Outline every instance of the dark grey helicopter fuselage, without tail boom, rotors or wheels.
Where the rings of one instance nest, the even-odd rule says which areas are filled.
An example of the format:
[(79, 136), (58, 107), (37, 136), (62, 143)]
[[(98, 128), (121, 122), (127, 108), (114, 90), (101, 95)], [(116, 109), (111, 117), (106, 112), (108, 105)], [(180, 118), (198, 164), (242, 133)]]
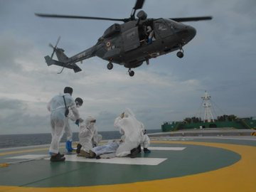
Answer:
[[(153, 41), (147, 43), (146, 26), (154, 30)], [(113, 24), (99, 38), (95, 55), (111, 63), (137, 68), (146, 60), (182, 49), (196, 36), (196, 29), (171, 19), (129, 21)]]

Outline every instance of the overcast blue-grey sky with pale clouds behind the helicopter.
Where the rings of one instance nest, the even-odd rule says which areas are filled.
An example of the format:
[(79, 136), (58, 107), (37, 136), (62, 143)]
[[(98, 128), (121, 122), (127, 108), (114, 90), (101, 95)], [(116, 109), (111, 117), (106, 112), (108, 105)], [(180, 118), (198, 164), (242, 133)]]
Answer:
[[(184, 58), (169, 53), (134, 69), (90, 58), (78, 63), (82, 72), (48, 67), (44, 56), (61, 36), (68, 56), (95, 45), (112, 21), (39, 18), (34, 13), (128, 18), (135, 0), (0, 0), (0, 134), (50, 133), (47, 102), (73, 87), (82, 97), (81, 117), (92, 115), (99, 131), (114, 130), (113, 122), (129, 107), (146, 129), (161, 129), (201, 111), (207, 90), (215, 116), (256, 116), (256, 1), (146, 0), (149, 18), (213, 16), (188, 22), (196, 37), (184, 46)], [(73, 126), (73, 132), (78, 128)]]

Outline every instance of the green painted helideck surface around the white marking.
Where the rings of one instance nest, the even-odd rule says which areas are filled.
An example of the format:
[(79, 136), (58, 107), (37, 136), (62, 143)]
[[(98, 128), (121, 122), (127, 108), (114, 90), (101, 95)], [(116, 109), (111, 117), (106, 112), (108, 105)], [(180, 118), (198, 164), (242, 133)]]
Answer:
[[(0, 167), (0, 189), (1, 186), (34, 188), (102, 186), (190, 176), (225, 168), (241, 160), (240, 154), (235, 151), (221, 147), (204, 146), (204, 142), (256, 146), (255, 141), (238, 139), (200, 138), (178, 142), (181, 142), (181, 144), (163, 144), (154, 141), (151, 146), (186, 147), (186, 149), (182, 151), (154, 150), (151, 151), (151, 154), (144, 154), (142, 151), (142, 154), (137, 156), (137, 158), (166, 158), (166, 161), (156, 166), (73, 161), (53, 163), (48, 159), (10, 164), (7, 167)], [(186, 144), (186, 142), (196, 142), (197, 144)], [(36, 151), (36, 149), (39, 149), (39, 151)], [(23, 154), (47, 155), (48, 153), (46, 146), (36, 147), (36, 149), (24, 149), (23, 152), (22, 149), (0, 151), (0, 164), (23, 160), (8, 159), (10, 156), (21, 156)]]

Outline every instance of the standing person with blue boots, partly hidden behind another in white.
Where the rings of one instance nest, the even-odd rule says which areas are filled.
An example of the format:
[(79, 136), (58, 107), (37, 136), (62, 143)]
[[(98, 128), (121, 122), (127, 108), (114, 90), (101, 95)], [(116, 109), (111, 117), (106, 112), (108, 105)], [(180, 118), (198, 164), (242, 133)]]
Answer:
[[(83, 103), (83, 101), (80, 97), (75, 98), (75, 105), (77, 108), (81, 107), (82, 103)], [(76, 120), (75, 116), (74, 116), (72, 110), (70, 110), (70, 108), (69, 108), (68, 118), (66, 119), (67, 122), (65, 123), (65, 134), (67, 137), (67, 142), (65, 143), (65, 148), (67, 149), (68, 152), (72, 152), (74, 150), (72, 147), (73, 132), (70, 128), (69, 119), (73, 122), (75, 122), (75, 120)]]

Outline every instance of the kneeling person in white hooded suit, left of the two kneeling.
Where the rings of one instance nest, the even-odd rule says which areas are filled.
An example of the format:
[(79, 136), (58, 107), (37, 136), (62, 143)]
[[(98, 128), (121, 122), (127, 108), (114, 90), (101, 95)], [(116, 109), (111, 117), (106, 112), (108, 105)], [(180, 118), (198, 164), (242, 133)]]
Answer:
[(85, 156), (90, 158), (90, 150), (102, 139), (100, 134), (97, 134), (97, 127), (95, 126), (96, 119), (89, 116), (80, 124), (80, 132), (78, 134), (80, 150), (77, 150), (78, 156)]

